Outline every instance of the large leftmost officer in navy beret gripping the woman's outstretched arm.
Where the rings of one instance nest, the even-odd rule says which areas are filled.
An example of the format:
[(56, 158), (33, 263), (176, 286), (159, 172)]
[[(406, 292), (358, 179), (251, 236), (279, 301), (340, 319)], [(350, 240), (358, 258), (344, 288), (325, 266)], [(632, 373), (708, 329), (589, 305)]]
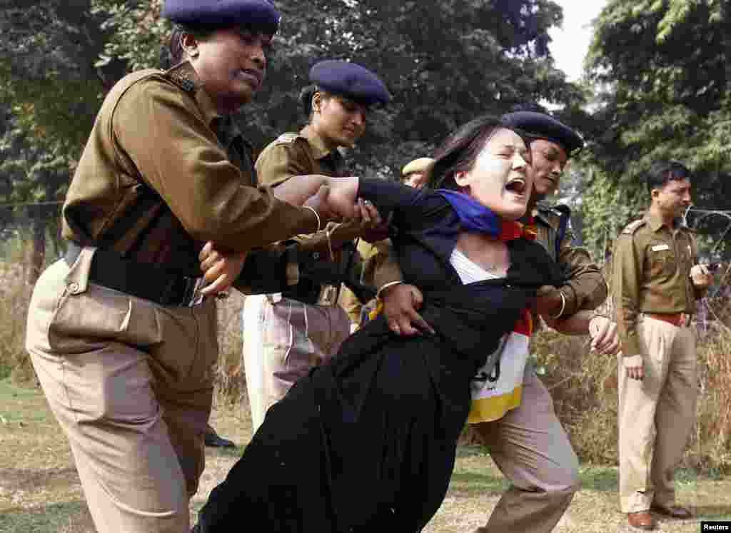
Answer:
[(230, 116), (262, 84), (273, 5), (167, 0), (163, 15), (186, 60), (107, 95), (64, 204), (69, 252), (29, 309), (26, 347), (99, 532), (189, 527), (217, 355), (202, 243), (244, 251), (327, 222), (322, 195), (302, 208), (252, 187)]

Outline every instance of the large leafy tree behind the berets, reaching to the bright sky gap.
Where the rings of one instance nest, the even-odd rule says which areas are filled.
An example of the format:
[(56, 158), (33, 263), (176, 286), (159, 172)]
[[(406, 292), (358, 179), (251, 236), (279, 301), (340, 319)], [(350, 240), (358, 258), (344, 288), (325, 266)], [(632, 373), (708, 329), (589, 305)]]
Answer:
[[(94, 5), (114, 30), (103, 56), (150, 66), (167, 31), (154, 20), (159, 1)], [(526, 100), (583, 102), (548, 54), (548, 29), (562, 20), (550, 0), (282, 0), (277, 7), (282, 23), (265, 88), (240, 116), (258, 147), (298, 129), (298, 93), (309, 67), (323, 58), (366, 65), (394, 96), (369, 118), (352, 153), (362, 172), (393, 175), (480, 113)]]

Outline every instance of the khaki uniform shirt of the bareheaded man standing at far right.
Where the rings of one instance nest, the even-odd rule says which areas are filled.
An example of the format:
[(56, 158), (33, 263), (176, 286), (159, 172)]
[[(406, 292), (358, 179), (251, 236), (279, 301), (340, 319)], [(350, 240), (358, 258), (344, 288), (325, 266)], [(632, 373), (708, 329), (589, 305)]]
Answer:
[(614, 244), (612, 292), (624, 355), (640, 355), (640, 313), (695, 312), (690, 269), (697, 257), (693, 230), (648, 213), (622, 230)]

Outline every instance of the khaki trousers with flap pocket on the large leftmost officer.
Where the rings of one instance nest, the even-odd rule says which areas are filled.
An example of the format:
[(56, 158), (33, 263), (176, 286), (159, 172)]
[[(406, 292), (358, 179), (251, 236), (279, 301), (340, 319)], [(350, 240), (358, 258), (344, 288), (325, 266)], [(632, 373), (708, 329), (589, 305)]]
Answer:
[(34, 288), (26, 347), (99, 533), (187, 533), (204, 468), (216, 307), (167, 308), (88, 282), (94, 249)]

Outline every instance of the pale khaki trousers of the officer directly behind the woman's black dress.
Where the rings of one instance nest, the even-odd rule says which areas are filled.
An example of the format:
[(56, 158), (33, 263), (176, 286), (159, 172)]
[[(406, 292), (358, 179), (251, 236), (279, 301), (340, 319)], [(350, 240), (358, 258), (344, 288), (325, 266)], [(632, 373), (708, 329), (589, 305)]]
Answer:
[(248, 296), (243, 309), (243, 364), (254, 431), (273, 404), (311, 368), (338, 352), (350, 335), (340, 306), (311, 306)]

